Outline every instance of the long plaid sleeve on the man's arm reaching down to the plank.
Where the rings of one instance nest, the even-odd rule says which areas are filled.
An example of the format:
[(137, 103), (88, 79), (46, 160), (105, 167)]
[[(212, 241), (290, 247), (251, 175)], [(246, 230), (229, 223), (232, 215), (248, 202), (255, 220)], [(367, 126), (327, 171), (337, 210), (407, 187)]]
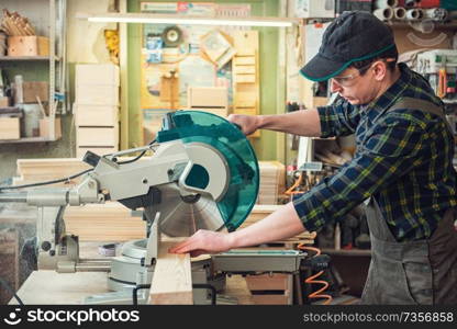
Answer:
[(350, 162), (293, 200), (303, 226), (310, 231), (320, 230), (422, 164), (423, 139), (426, 138), (417, 123), (389, 115), (389, 120), (367, 136)]

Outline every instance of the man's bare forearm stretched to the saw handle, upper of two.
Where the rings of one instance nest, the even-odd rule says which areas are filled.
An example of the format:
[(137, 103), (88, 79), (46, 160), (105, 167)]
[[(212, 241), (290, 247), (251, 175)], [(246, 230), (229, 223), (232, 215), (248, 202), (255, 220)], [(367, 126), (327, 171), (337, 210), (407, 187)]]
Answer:
[(257, 128), (308, 137), (321, 136), (321, 122), (316, 109), (279, 115), (259, 115)]

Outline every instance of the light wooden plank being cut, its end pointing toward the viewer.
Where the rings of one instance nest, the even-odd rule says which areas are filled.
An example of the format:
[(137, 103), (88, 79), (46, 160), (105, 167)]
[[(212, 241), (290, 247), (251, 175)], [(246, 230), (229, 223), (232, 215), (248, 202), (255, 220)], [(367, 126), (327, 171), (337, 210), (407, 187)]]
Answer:
[(168, 253), (176, 242), (161, 242), (154, 269), (148, 304), (192, 305), (192, 271), (189, 253)]

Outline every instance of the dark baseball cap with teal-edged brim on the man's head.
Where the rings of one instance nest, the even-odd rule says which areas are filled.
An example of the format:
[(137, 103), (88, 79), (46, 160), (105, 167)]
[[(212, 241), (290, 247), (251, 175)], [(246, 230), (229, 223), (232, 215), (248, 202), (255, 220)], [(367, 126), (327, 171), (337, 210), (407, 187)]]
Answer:
[(312, 81), (328, 80), (353, 63), (395, 48), (392, 30), (365, 11), (345, 11), (325, 30), (322, 44), (300, 72)]

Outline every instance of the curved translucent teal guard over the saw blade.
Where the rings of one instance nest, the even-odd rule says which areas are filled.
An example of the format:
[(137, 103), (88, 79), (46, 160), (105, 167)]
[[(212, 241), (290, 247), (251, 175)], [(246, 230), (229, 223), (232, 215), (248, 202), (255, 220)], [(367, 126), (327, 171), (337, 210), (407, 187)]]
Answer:
[[(259, 189), (257, 157), (243, 132), (225, 118), (208, 112), (177, 111), (167, 114), (156, 139), (158, 143), (180, 139), (185, 144), (205, 144), (224, 157), (230, 181), (215, 204), (228, 231), (239, 227), (254, 207)], [(222, 170), (226, 169), (221, 168), (221, 174)], [(187, 182), (198, 186), (201, 178), (197, 170)]]

